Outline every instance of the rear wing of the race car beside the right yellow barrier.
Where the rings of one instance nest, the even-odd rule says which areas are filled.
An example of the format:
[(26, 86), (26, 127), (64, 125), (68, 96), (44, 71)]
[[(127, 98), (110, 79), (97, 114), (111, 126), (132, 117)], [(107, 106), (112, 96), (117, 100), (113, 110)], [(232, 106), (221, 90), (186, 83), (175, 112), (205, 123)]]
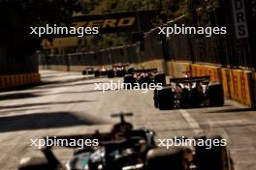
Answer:
[(194, 77), (184, 77), (184, 78), (171, 78), (172, 83), (194, 83), (194, 82), (209, 82), (210, 75), (207, 76), (194, 76)]

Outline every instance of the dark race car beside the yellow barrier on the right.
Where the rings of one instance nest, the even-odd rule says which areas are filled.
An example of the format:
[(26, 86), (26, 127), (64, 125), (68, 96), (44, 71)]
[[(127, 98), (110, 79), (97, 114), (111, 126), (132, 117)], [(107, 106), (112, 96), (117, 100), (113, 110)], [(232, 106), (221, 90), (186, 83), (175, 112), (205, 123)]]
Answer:
[(222, 84), (210, 83), (210, 76), (172, 78), (171, 84), (154, 91), (154, 105), (160, 110), (222, 106), (224, 94)]

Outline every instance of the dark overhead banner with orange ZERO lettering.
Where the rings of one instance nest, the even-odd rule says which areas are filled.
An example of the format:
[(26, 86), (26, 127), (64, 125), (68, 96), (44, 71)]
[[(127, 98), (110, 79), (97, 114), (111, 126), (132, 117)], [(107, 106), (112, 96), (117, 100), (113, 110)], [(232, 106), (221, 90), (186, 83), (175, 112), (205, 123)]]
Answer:
[(152, 28), (157, 11), (74, 16), (75, 27), (99, 27), (99, 34), (117, 32), (145, 32)]

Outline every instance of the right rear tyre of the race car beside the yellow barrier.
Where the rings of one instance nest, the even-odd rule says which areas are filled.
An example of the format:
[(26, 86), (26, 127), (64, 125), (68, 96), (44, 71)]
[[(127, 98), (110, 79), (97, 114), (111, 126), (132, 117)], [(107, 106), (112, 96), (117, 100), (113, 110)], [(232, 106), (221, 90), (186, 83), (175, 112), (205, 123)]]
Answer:
[(224, 93), (222, 84), (209, 84), (208, 86), (208, 104), (210, 106), (224, 105)]

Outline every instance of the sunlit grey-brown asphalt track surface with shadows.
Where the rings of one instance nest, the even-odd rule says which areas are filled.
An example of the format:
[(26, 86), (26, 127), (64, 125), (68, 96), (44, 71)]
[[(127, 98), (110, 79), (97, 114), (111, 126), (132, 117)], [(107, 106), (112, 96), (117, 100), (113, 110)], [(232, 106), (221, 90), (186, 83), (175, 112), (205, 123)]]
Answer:
[[(256, 112), (231, 100), (223, 107), (160, 111), (153, 93), (95, 91), (94, 83), (109, 82), (76, 72), (41, 71), (50, 83), (25, 90), (0, 93), (0, 167), (16, 169), (23, 156), (42, 156), (30, 139), (46, 135), (110, 130), (117, 119), (111, 113), (133, 112), (127, 120), (136, 128), (151, 128), (158, 138), (193, 137), (204, 131), (228, 140), (236, 170), (256, 169)], [(114, 78), (114, 80), (118, 80)], [(56, 149), (63, 161), (72, 152)], [(65, 153), (65, 154), (64, 154)]]

